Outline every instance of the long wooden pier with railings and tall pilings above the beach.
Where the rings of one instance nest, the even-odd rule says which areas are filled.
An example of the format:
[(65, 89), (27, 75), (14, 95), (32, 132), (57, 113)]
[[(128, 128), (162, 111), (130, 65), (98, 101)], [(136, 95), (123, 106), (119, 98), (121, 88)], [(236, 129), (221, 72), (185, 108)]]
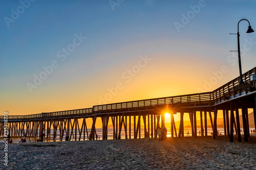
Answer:
[[(207, 136), (207, 117), (210, 118), (212, 139), (218, 135), (217, 115), (221, 110), (223, 113), (224, 135), (233, 141), (233, 135), (238, 136), (242, 141), (239, 111), (242, 113), (243, 140), (248, 141), (250, 137), (248, 123), (248, 109), (253, 109), (254, 125), (256, 125), (256, 88), (255, 81), (250, 80), (251, 75), (256, 75), (256, 67), (243, 74), (245, 85), (238, 85), (239, 77), (224, 84), (211, 92), (196, 94), (168, 96), (165, 98), (147, 99), (131, 102), (121, 102), (105, 105), (97, 105), (92, 108), (66, 110), (31, 115), (0, 116), (0, 136), (4, 136), (6, 126), (11, 137), (23, 136), (39, 138), (38, 134), (47, 134), (50, 138), (53, 131), (53, 139), (60, 133), (60, 140), (65, 134), (69, 140), (95, 140), (97, 118), (102, 121), (102, 139), (108, 139), (108, 125), (113, 125), (112, 139), (121, 139), (121, 132), (124, 131), (125, 139), (141, 137), (157, 137), (156, 130), (165, 126), (164, 113), (170, 113), (170, 129), (172, 137), (184, 136), (184, 114), (188, 114), (191, 123), (192, 136), (197, 136), (197, 114), (200, 114), (202, 136)], [(174, 114), (180, 115), (180, 125), (175, 126)], [(236, 117), (234, 117), (236, 114)], [(212, 119), (212, 116), (214, 117)], [(203, 119), (204, 117), (204, 119)], [(79, 124), (78, 120), (82, 120)], [(92, 127), (87, 126), (88, 119), (91, 119)], [(127, 122), (129, 120), (129, 123)], [(134, 122), (131, 127), (131, 122)], [(81, 121), (80, 121), (81, 122)], [(141, 136), (141, 122), (144, 124), (144, 136)], [(254, 127), (255, 128), (255, 127)], [(88, 129), (91, 129), (88, 131)], [(179, 131), (177, 132), (177, 129)], [(233, 129), (235, 130), (233, 133)], [(78, 132), (78, 135), (77, 135)], [(133, 134), (133, 136), (132, 136)], [(83, 136), (83, 137), (82, 137)]]

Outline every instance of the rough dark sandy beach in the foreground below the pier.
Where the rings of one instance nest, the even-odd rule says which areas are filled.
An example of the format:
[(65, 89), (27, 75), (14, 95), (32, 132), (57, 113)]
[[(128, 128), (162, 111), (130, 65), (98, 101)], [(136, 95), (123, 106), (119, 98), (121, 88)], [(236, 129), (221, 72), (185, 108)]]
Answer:
[(7, 169), (256, 169), (256, 137), (12, 143), (8, 154)]

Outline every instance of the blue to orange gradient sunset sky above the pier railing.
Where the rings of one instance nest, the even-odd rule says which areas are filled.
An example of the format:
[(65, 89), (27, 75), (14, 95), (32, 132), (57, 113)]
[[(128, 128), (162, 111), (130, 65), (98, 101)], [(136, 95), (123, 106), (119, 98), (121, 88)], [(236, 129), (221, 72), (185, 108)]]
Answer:
[[(215, 90), (239, 76), (237, 53), (229, 52), (237, 36), (229, 33), (242, 18), (256, 30), (255, 1), (22, 2), (26, 8), (0, 2), (0, 108), (9, 115)], [(256, 32), (245, 33), (246, 21), (239, 27), (245, 72), (256, 66)], [(87, 38), (73, 49), (80, 35)], [(35, 85), (52, 62), (57, 67)], [(217, 81), (206, 86), (210, 80)]]

